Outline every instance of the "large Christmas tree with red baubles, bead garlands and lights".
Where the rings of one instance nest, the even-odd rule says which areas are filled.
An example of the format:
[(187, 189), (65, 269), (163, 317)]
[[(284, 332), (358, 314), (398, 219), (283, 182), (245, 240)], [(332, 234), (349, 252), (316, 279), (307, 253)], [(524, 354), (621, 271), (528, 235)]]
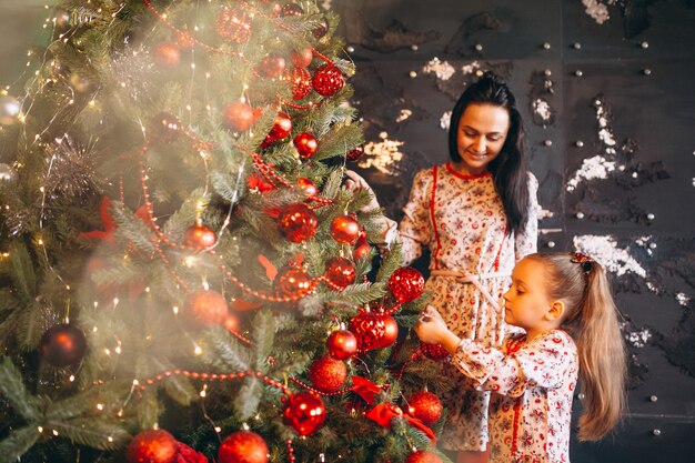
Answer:
[(0, 461), (419, 462), (445, 380), (314, 1), (63, 0), (2, 94)]

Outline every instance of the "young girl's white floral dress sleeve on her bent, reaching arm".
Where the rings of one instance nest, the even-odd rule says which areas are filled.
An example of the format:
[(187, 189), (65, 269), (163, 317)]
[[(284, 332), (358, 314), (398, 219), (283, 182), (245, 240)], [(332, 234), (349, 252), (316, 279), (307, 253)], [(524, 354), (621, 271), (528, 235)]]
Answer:
[[(518, 338), (507, 338), (504, 346)], [(575, 361), (574, 342), (561, 332), (542, 334), (506, 355), (466, 339), (461, 341), (452, 358), (452, 363), (473, 380), (476, 390), (514, 397), (522, 395), (527, 387), (560, 387)]]

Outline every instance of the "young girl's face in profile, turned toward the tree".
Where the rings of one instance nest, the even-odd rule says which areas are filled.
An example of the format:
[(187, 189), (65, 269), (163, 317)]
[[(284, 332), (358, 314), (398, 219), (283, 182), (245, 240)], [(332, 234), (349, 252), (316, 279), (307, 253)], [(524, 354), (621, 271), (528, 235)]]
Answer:
[(512, 286), (504, 293), (504, 321), (533, 333), (547, 322), (553, 301), (546, 293), (543, 263), (522, 259), (512, 272)]

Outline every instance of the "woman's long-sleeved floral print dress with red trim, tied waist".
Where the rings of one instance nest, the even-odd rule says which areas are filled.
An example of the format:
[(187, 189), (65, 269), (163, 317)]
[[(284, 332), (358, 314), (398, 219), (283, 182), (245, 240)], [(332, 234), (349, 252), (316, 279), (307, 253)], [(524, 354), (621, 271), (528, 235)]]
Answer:
[[(504, 311), (491, 300), (502, 300), (514, 264), (536, 251), (537, 181), (532, 174), (528, 184), (528, 222), (524, 232), (515, 235), (507, 233), (504, 207), (491, 173), (463, 175), (446, 163), (415, 175), (399, 225), (404, 261), (412, 262), (423, 246), (430, 248), (432, 276), (425, 289), (449, 329), (462, 339), (496, 348), (506, 334)], [(447, 271), (480, 276), (488, 298), (461, 278), (436, 274)], [(441, 443), (450, 450), (484, 450), (490, 393), (471, 391), (455, 369), (444, 369), (460, 381), (441, 397), (449, 410)]]

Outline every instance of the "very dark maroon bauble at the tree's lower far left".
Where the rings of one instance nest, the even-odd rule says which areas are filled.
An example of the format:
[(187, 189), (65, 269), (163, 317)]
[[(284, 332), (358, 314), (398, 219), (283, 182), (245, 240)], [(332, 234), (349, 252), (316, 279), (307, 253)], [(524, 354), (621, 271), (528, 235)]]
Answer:
[(79, 328), (71, 324), (57, 324), (41, 336), (39, 352), (53, 366), (68, 366), (79, 363), (84, 356), (87, 338)]

